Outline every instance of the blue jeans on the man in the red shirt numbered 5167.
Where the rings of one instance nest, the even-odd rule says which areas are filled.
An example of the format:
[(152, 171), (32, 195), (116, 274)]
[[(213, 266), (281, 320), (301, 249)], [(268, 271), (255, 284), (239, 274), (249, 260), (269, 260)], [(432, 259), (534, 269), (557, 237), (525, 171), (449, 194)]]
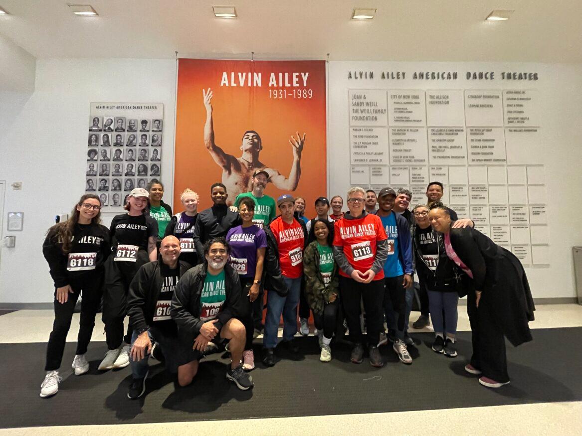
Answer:
[(289, 289), (287, 296), (281, 296), (275, 291), (267, 292), (267, 316), (265, 316), (265, 333), (262, 339), (262, 345), (265, 348), (277, 346), (277, 331), (281, 315), (283, 315), (283, 341), (290, 341), (297, 333), (297, 304), (301, 294), (301, 277), (283, 276), (283, 280)]

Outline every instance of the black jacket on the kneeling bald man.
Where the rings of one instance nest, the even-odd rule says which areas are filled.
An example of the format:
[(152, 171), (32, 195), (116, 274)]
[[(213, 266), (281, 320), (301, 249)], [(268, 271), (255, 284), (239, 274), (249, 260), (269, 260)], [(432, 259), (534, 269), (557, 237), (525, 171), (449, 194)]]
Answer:
[[(186, 262), (179, 262), (180, 276), (190, 268)], [(155, 305), (158, 302), (159, 288), (166, 277), (168, 266), (162, 259), (142, 265), (129, 285), (127, 295), (127, 315), (130, 326), (135, 331), (149, 328), (154, 318)], [(178, 282), (179, 283), (179, 282)]]

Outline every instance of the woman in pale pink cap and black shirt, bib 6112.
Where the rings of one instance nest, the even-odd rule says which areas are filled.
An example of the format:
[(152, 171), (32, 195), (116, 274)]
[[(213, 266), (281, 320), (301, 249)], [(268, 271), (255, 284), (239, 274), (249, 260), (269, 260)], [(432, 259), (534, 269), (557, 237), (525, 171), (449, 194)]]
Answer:
[(132, 326), (128, 326), (127, 334), (123, 336), (129, 284), (144, 263), (158, 258), (155, 249), (158, 223), (144, 213), (149, 196), (146, 190), (135, 188), (124, 206), (127, 213), (113, 217), (109, 228), (113, 255), (105, 264), (103, 296), (103, 322), (108, 352), (99, 365), (100, 370), (129, 365)]

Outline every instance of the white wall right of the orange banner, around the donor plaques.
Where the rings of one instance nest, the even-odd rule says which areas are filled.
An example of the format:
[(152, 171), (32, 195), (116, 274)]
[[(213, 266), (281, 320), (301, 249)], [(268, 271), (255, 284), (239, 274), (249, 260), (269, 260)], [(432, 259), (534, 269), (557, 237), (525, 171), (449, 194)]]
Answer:
[[(329, 89), (329, 191), (342, 195), (350, 187), (349, 89), (537, 89), (541, 94), (543, 156), (531, 163), (544, 163), (548, 194), (549, 267), (531, 267), (526, 272), (535, 298), (573, 297), (575, 294), (572, 246), (582, 244), (582, 66), (510, 63), (437, 62), (330, 62)], [(348, 80), (347, 72), (375, 72), (373, 80)], [(381, 80), (380, 73), (406, 71), (406, 80)], [(414, 71), (457, 71), (456, 81), (412, 80)], [(467, 81), (469, 71), (538, 72), (540, 80)], [(419, 202), (421, 199), (418, 199)], [(413, 199), (413, 203), (415, 203)]]

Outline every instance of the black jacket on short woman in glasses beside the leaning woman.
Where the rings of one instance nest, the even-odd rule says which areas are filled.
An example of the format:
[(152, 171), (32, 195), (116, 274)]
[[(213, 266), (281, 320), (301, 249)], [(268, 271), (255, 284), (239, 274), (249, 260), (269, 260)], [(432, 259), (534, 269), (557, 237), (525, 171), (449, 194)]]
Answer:
[[(462, 291), (460, 283), (461, 271), (455, 262), (449, 259), (445, 251), (445, 240), (442, 233), (437, 234), (438, 244), (438, 265), (435, 271), (431, 270), (423, 260), (423, 252), (420, 249), (417, 241), (418, 226), (414, 224), (412, 230), (412, 244), (414, 247), (414, 258), (416, 259), (416, 273), (420, 279), (420, 283), (425, 285), (429, 291), (440, 292), (459, 292)], [(460, 296), (462, 292), (459, 293)]]

